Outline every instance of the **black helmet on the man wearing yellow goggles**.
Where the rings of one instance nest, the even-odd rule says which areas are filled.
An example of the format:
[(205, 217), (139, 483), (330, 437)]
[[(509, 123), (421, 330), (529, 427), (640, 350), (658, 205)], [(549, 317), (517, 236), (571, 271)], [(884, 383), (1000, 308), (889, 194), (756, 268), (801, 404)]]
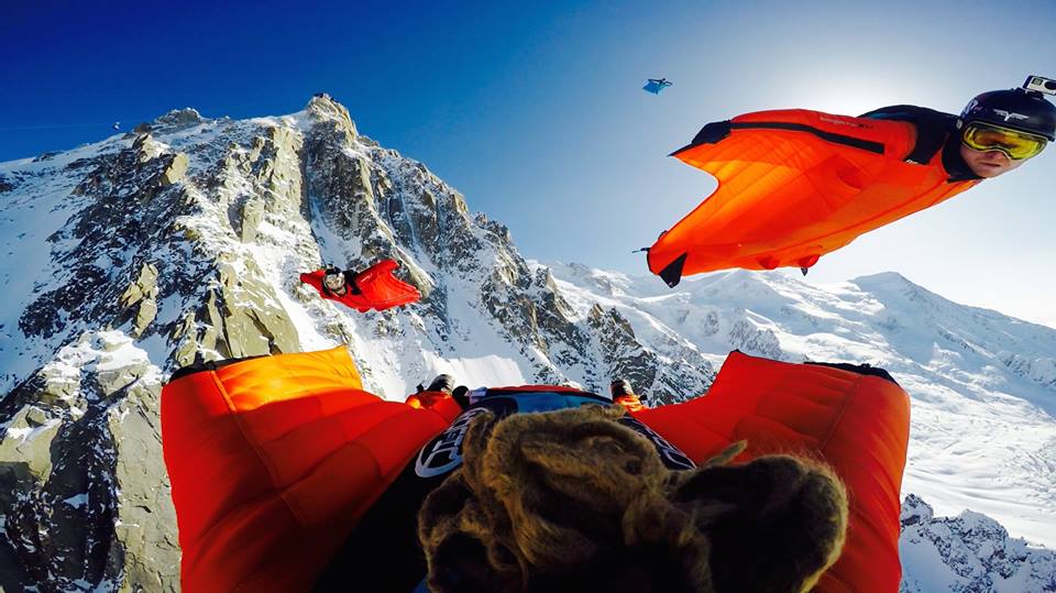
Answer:
[(982, 121), (1056, 141), (1056, 106), (1024, 88), (991, 90), (976, 97), (960, 112), (960, 123)]

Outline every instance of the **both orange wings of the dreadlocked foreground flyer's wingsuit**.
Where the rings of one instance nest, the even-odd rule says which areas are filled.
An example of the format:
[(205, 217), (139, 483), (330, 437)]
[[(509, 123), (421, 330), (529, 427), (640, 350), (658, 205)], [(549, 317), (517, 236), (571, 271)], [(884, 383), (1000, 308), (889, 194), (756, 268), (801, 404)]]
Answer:
[[(451, 397), (417, 403), (362, 391), (343, 347), (174, 376), (162, 437), (183, 590), (309, 590), (400, 469), (460, 413)], [(632, 414), (698, 462), (740, 439), (741, 460), (773, 451), (825, 460), (847, 484), (851, 515), (843, 556), (816, 591), (898, 590), (909, 399), (895, 383), (733, 352), (706, 396)]]

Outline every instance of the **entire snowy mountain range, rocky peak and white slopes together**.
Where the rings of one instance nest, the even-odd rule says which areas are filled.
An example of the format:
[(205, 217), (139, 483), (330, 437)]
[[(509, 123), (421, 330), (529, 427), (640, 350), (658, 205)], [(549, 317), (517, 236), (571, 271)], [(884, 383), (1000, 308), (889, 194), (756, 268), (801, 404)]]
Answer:
[[(2, 163), (0, 250), (0, 587), (178, 590), (162, 382), (194, 361), (338, 343), (367, 387), (394, 399), (449, 372), (470, 386), (594, 391), (623, 376), (659, 404), (703, 393), (733, 349), (869, 362), (914, 399), (905, 493), (1056, 543), (1056, 330), (897, 274), (820, 288), (733, 272), (671, 292), (651, 277), (529, 262), (504, 226), (360, 134), (327, 96), (278, 118), (173, 111)], [(420, 303), (361, 315), (297, 282), (322, 263), (383, 256), (400, 262)], [(943, 552), (950, 539), (920, 535), (938, 520), (926, 515), (904, 549), (933, 546), (938, 563), (906, 561), (906, 591), (945, 591), (926, 589), (939, 582), (935, 567), (963, 567), (964, 554)], [(1050, 552), (986, 548), (976, 535), (1001, 528), (976, 523), (988, 529), (941, 535), (977, 558), (1000, 549), (1010, 574), (1028, 575), (1016, 582), (1052, 583)]]

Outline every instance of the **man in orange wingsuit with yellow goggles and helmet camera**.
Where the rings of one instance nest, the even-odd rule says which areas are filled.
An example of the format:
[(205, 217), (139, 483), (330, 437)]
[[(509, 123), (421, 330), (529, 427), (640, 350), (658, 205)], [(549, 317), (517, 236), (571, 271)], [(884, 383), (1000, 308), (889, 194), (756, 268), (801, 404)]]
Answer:
[(1012, 171), (1056, 140), (1056, 80), (983, 92), (960, 116), (900, 105), (851, 118), (789, 109), (708, 123), (672, 153), (718, 188), (647, 249), (684, 275), (799, 267)]

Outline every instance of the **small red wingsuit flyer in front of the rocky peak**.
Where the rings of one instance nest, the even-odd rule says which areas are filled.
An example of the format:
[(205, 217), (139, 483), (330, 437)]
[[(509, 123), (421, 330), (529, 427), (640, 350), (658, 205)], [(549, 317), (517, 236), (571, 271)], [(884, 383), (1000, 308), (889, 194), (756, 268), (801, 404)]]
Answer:
[(417, 288), (393, 275), (397, 264), (382, 260), (363, 272), (338, 268), (316, 270), (300, 275), (300, 282), (312, 286), (319, 296), (366, 312), (383, 311), (421, 298)]

